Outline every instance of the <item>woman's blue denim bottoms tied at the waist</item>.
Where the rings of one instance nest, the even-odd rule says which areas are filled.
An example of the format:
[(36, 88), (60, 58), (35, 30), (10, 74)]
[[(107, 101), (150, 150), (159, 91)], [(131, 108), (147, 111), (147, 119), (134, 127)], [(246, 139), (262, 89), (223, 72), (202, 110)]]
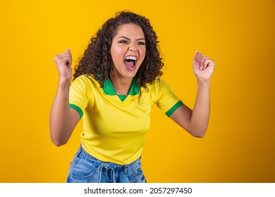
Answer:
[(140, 158), (128, 165), (102, 162), (82, 146), (75, 154), (68, 172), (68, 183), (146, 183)]

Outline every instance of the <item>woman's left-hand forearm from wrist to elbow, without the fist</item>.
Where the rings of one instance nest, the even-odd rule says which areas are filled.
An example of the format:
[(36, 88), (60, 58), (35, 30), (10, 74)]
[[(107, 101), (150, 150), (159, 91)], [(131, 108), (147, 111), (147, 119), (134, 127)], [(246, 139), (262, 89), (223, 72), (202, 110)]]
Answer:
[(51, 141), (56, 146), (66, 144), (72, 132), (70, 128), (69, 87), (70, 81), (59, 82), (51, 107), (49, 127)]

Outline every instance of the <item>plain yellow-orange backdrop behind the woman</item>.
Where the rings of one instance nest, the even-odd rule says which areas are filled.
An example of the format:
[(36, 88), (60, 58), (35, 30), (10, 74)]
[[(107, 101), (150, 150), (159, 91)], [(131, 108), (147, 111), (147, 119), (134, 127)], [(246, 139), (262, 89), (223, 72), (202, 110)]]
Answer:
[(73, 65), (102, 23), (122, 10), (150, 19), (164, 80), (193, 108), (195, 50), (216, 62), (211, 120), (196, 139), (157, 107), (142, 155), (148, 182), (275, 182), (275, 1), (1, 1), (0, 182), (65, 182), (80, 144), (49, 137), (58, 73)]

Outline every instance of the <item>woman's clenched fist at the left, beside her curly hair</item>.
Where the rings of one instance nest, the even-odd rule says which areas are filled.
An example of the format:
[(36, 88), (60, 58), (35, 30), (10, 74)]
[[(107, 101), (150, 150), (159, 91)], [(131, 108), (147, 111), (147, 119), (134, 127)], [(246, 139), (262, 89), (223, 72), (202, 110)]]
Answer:
[(73, 75), (72, 65), (72, 54), (69, 49), (66, 49), (63, 53), (54, 56), (54, 62), (56, 68), (59, 71), (59, 80), (71, 80)]

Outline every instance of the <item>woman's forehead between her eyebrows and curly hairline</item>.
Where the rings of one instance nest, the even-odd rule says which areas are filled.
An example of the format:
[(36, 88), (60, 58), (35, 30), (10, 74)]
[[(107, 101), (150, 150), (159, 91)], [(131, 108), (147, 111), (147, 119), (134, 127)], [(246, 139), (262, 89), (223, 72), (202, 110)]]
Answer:
[(135, 37), (135, 38), (145, 38), (142, 28), (138, 25), (129, 23), (118, 26), (115, 37)]

